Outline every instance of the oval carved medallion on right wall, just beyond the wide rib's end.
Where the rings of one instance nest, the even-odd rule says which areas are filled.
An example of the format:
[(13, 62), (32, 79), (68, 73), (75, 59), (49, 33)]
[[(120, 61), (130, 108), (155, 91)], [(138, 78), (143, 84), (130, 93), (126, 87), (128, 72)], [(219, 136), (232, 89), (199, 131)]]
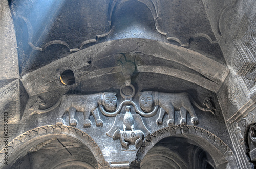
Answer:
[(238, 84), (234, 83), (228, 88), (228, 99), (232, 104), (238, 104), (241, 100), (241, 96), (242, 92)]

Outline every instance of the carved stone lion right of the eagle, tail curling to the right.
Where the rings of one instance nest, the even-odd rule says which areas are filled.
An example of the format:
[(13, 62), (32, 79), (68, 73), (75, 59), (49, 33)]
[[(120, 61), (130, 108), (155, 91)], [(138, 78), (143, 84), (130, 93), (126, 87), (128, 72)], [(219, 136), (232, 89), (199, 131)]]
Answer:
[[(162, 92), (154, 92), (154, 91), (145, 91), (140, 92), (140, 107), (144, 112), (149, 112), (153, 109), (153, 101), (160, 106), (160, 114), (156, 121), (157, 125), (162, 125), (163, 117), (166, 114), (169, 116), (168, 126), (174, 124), (174, 111), (180, 110), (181, 120), (180, 124), (186, 124), (187, 119), (187, 111), (191, 115), (191, 122), (195, 125), (199, 123), (197, 115), (193, 106), (194, 104), (197, 108), (202, 111), (209, 111), (214, 114), (214, 108), (209, 99), (206, 99), (204, 104), (207, 108), (200, 107), (193, 98), (188, 93), (162, 93)], [(153, 97), (155, 96), (155, 97)]]

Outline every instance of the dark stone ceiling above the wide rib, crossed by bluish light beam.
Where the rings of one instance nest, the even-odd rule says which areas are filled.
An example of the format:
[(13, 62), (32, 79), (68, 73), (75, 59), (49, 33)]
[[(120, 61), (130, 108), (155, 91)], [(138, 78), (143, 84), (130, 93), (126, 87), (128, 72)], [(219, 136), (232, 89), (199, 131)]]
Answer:
[(225, 63), (202, 1), (14, 0), (10, 6), (22, 75), (91, 45), (124, 38), (163, 41)]

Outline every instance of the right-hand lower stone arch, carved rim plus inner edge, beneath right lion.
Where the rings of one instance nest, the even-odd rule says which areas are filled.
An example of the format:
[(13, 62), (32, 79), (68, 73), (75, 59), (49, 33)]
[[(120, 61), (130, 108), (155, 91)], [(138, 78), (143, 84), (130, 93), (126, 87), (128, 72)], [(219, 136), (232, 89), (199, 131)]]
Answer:
[[(216, 135), (211, 132), (196, 126), (190, 125), (175, 125), (171, 127), (165, 127), (158, 130), (147, 137), (139, 148), (136, 155), (136, 165), (139, 165), (147, 152), (161, 139), (167, 137), (184, 137), (193, 140), (198, 143), (198, 146), (204, 148), (206, 152), (212, 152), (211, 156), (217, 168), (222, 168), (223, 165), (227, 165), (228, 161), (226, 157), (232, 156), (232, 150)], [(200, 144), (202, 143), (202, 144)]]

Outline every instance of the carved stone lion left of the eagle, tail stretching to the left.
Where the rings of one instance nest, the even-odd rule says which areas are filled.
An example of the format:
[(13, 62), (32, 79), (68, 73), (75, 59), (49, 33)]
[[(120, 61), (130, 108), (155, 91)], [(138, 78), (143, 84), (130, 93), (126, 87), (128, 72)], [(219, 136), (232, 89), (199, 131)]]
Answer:
[(42, 101), (37, 99), (37, 102), (30, 108), (34, 110), (32, 114), (42, 114), (49, 112), (55, 109), (59, 104), (58, 118), (56, 124), (64, 124), (65, 121), (62, 119), (63, 115), (69, 113), (69, 124), (71, 126), (77, 125), (77, 120), (75, 119), (75, 114), (77, 111), (83, 112), (84, 114), (84, 127), (90, 127), (91, 121), (89, 120), (90, 116), (93, 115), (96, 121), (97, 126), (103, 126), (103, 121), (99, 117), (98, 106), (103, 105), (106, 110), (112, 112), (116, 110), (117, 98), (116, 93), (104, 92), (96, 93), (90, 95), (75, 95), (75, 94), (66, 94), (63, 95), (59, 101), (52, 107), (44, 110), (39, 110), (38, 104)]

